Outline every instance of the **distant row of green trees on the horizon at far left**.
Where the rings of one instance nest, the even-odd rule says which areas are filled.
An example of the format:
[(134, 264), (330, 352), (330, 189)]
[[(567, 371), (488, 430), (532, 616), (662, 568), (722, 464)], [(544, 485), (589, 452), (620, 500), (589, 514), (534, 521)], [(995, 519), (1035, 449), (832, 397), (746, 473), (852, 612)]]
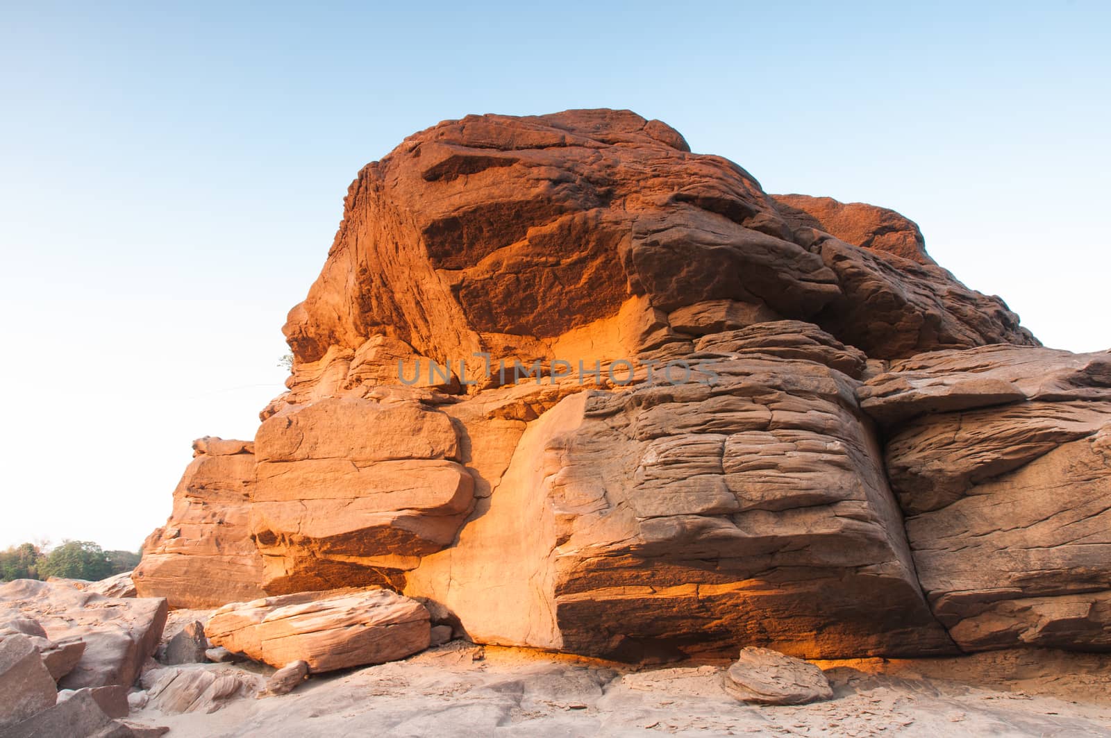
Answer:
[(88, 540), (66, 540), (49, 550), (21, 543), (0, 551), (0, 580), (62, 577), (97, 581), (134, 569), (139, 558), (133, 551), (106, 551)]

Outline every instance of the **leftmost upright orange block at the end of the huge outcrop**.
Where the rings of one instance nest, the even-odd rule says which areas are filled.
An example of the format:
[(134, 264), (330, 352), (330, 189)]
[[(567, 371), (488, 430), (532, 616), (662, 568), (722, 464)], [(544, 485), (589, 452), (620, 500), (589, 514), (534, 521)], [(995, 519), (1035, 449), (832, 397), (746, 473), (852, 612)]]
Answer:
[(170, 607), (220, 607), (262, 596), (262, 557), (248, 528), (253, 443), (206, 437), (173, 491), (173, 512), (143, 545), (133, 572), (142, 597)]

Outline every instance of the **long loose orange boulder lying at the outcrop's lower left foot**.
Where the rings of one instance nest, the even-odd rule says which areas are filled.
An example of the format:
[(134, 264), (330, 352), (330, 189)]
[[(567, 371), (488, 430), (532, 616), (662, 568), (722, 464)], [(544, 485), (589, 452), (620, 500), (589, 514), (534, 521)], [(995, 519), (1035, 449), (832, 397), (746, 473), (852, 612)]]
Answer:
[(382, 664), (428, 648), (428, 610), (386, 589), (343, 589), (268, 597), (220, 608), (204, 627), (218, 646), (312, 672)]

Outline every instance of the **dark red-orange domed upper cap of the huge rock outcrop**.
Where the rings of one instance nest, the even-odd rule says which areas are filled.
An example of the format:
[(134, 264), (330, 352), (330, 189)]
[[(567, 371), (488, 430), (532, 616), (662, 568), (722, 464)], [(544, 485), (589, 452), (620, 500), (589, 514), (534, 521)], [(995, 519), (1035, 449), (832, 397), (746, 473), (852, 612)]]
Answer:
[[(743, 169), (648, 133), (657, 128), (665, 127), (612, 110), (471, 116), (366, 167), (328, 263), (284, 328), (291, 387), (311, 382), (316, 392), (296, 389), (290, 401), (349, 389), (356, 352), (378, 336), (441, 362), (476, 351), (550, 359), (562, 337), (604, 335), (639, 298), (662, 311), (664, 327), (673, 316), (694, 335), (771, 316), (805, 320), (837, 302), (829, 325), (853, 336), (834, 336), (870, 348), (854, 340), (861, 335), (889, 356), (1030, 342), (1001, 301), (929, 263), (905, 219), (839, 206), (868, 211), (868, 223), (844, 229), (810, 217), (800, 228)], [(818, 226), (883, 258), (901, 251), (927, 263), (907, 261), (913, 275), (904, 279), (902, 265), (873, 262), (867, 248), (792, 233)], [(875, 306), (889, 315), (855, 330)], [(610, 359), (629, 350), (602, 343)], [(464, 373), (461, 381), (487, 372), (476, 361)]]

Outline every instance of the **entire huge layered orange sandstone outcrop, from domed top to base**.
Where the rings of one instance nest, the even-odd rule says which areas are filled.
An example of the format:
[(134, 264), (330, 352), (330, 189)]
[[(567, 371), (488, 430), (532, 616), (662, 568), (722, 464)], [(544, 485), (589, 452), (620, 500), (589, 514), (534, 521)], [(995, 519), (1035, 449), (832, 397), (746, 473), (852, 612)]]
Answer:
[(628, 659), (1111, 645), (1111, 357), (1041, 348), (898, 213), (768, 196), (660, 121), (410, 137), (284, 332), (289, 391), (253, 447), (199, 447), (140, 592), (383, 587)]

